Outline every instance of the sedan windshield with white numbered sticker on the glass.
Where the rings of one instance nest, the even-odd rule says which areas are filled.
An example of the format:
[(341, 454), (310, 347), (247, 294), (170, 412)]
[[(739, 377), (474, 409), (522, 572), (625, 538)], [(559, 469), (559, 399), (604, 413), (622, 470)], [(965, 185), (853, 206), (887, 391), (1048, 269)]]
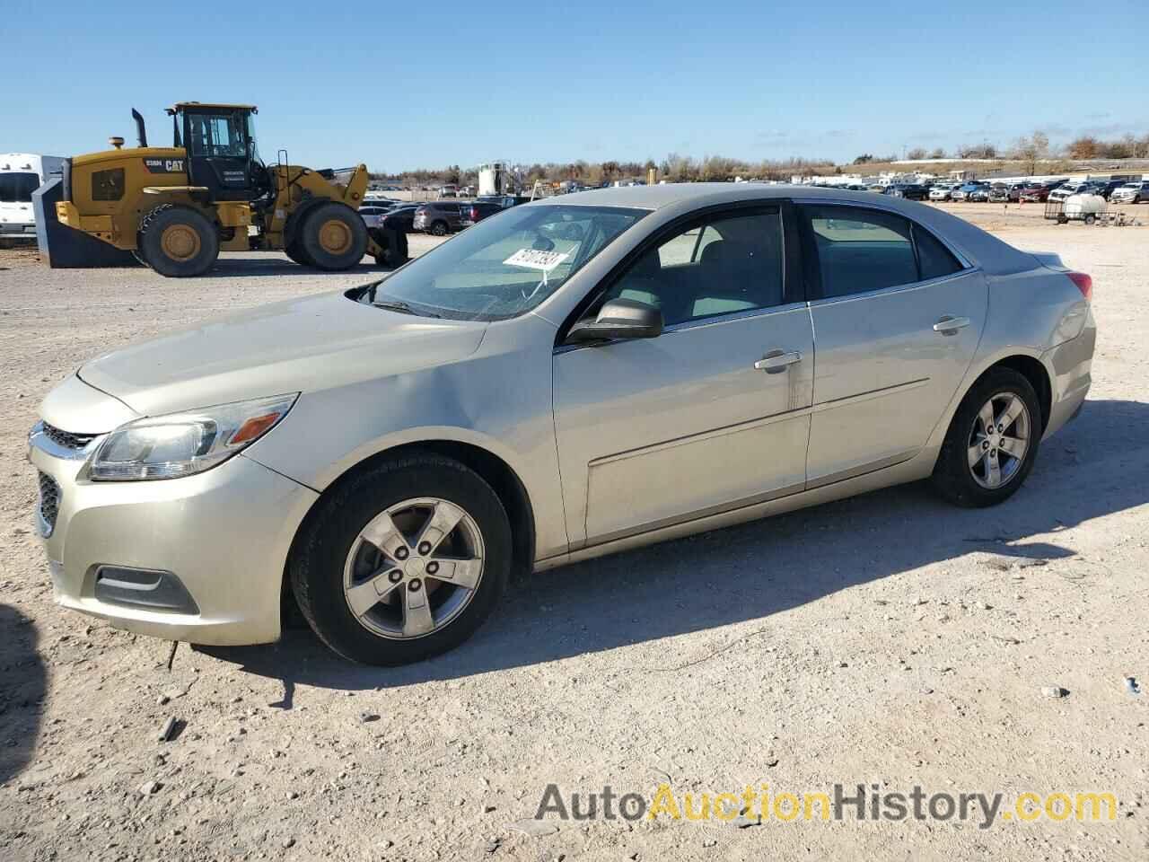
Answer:
[(417, 257), (360, 301), (456, 320), (516, 317), (557, 291), (645, 210), (515, 207)]

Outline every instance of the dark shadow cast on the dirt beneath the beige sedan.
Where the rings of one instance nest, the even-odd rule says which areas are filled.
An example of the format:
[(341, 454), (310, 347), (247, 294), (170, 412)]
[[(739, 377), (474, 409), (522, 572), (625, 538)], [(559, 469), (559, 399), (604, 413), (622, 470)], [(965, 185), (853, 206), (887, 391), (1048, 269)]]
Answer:
[(203, 649), (284, 680), (290, 708), (296, 685), (392, 687), (556, 661), (764, 619), (977, 552), (1067, 560), (1077, 555), (1070, 542), (1026, 537), (1149, 501), (1147, 423), (1149, 405), (1088, 402), (1044, 441), (1025, 486), (990, 509), (949, 506), (918, 483), (540, 574), (512, 583), (466, 644), (404, 668), (352, 664), (307, 629), (276, 645)]

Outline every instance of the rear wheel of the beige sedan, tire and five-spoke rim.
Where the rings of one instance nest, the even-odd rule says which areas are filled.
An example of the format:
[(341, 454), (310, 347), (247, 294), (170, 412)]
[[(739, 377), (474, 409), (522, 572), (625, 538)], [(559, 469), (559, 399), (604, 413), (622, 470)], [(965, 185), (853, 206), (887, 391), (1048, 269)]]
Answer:
[[(1017, 410), (1015, 399), (1024, 411)], [(1001, 417), (1007, 407), (1012, 416), (1004, 423), (1004, 430), (993, 437), (984, 431), (982, 410), (989, 403), (995, 416)], [(954, 414), (934, 465), (934, 488), (950, 502), (971, 508), (1008, 500), (1033, 469), (1043, 428), (1038, 394), (1025, 376), (1010, 368), (990, 369), (965, 394)], [(1012, 442), (998, 448), (996, 444), (1001, 440)], [(1017, 451), (1018, 440), (1024, 441), (1020, 457), (1001, 454)], [(978, 451), (981, 456), (971, 463)], [(996, 477), (992, 474), (994, 464)]]

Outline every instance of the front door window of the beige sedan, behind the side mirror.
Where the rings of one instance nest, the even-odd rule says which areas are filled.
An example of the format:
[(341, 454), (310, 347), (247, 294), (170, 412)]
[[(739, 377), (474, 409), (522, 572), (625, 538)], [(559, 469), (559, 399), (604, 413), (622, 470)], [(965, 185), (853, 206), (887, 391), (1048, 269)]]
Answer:
[(694, 222), (646, 251), (604, 299), (662, 311), (668, 326), (782, 303), (782, 223), (778, 209)]

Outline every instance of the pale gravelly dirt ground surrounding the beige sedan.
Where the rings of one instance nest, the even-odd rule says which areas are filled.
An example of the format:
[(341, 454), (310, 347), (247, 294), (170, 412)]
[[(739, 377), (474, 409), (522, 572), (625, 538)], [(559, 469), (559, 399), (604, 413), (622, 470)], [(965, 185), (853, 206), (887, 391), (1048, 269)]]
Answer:
[[(1149, 857), (1149, 229), (954, 209), (1094, 277), (1089, 401), (1011, 501), (959, 510), (907, 486), (555, 570), (462, 648), (398, 670), (304, 629), (180, 646), (169, 671), (168, 644), (64, 613), (25, 461), (40, 399), (85, 359), (375, 270), (225, 255), (177, 282), (0, 254), (0, 859)], [(552, 783), (568, 801), (863, 784), (1007, 806), (1110, 792), (1118, 809), (516, 828)]]

